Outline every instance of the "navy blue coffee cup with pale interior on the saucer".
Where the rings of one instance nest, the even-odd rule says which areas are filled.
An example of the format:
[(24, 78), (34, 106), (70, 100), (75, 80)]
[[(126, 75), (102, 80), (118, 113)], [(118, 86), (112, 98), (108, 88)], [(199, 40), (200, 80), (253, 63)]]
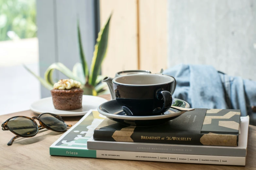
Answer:
[(172, 105), (175, 80), (157, 74), (125, 75), (112, 80), (116, 101), (127, 115), (153, 116)]

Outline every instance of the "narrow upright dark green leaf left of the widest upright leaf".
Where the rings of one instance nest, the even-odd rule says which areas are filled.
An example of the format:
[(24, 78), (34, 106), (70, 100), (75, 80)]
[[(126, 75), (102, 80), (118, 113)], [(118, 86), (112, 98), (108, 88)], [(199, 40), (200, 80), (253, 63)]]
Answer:
[(78, 33), (78, 44), (79, 44), (79, 56), (81, 60), (81, 64), (83, 66), (83, 74), (85, 78), (88, 78), (89, 76), (89, 69), (86, 63), (84, 51), (83, 51), (83, 44), (82, 44), (82, 39), (81, 39), (81, 33), (80, 33), (80, 26), (79, 26), (79, 21), (77, 20), (77, 33)]

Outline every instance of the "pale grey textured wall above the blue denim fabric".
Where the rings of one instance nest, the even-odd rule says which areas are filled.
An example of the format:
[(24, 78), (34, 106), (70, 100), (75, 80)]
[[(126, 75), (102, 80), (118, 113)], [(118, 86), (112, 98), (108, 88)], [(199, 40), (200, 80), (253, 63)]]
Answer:
[(169, 0), (168, 67), (179, 63), (256, 80), (256, 1)]

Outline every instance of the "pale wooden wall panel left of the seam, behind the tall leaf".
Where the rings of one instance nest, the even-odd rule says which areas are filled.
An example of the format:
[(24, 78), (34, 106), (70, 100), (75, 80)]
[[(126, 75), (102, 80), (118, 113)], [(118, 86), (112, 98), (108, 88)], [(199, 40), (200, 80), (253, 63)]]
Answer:
[(112, 12), (109, 44), (102, 64), (102, 75), (114, 77), (122, 70), (138, 69), (137, 1), (101, 0), (100, 24)]

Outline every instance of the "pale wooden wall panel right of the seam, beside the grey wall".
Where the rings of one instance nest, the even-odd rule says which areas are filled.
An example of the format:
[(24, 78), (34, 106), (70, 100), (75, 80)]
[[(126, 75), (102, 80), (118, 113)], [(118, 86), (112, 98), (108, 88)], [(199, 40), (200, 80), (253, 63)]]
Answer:
[(167, 67), (167, 0), (139, 0), (140, 69)]

